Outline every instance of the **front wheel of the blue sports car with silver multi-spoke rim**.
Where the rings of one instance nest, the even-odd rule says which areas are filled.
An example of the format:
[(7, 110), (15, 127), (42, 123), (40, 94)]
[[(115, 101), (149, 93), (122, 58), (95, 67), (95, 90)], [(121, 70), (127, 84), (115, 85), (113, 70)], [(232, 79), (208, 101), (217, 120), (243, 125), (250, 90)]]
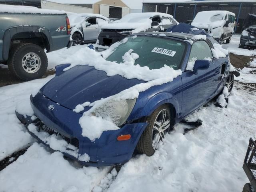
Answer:
[(160, 106), (148, 116), (147, 122), (148, 126), (140, 136), (136, 149), (141, 154), (152, 156), (158, 148), (158, 143), (170, 129), (170, 107), (166, 104)]

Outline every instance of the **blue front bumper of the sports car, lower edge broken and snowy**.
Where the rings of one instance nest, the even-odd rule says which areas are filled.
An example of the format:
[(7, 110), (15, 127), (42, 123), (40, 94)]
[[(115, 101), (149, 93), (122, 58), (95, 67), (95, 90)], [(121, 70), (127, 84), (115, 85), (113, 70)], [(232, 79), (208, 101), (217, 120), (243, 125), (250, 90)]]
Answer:
[[(34, 128), (33, 125), (26, 125), (28, 132), (53, 151), (61, 151), (65, 156), (88, 166), (108, 166), (127, 162), (132, 157), (140, 135), (147, 126), (147, 123), (125, 124), (118, 130), (104, 131), (99, 139), (92, 142), (82, 136), (82, 128), (78, 123), (82, 114), (64, 108), (40, 93), (36, 94), (34, 98), (30, 96), (30, 101), (39, 122), (43, 122), (47, 128), (62, 136), (66, 142), (70, 140), (70, 143), (67, 142), (68, 144), (64, 145), (66, 149), (58, 150), (48, 142), (50, 138), (47, 137), (52, 137), (52, 135), (44, 134), (44, 137), (42, 137), (42, 131), (44, 130), (38, 131), (38, 128)], [(49, 105), (54, 105), (54, 110), (48, 110)], [(17, 117), (25, 124), (28, 123), (19, 114), (17, 114)], [(35, 121), (32, 123), (35, 123)], [(117, 140), (118, 136), (125, 134), (130, 134), (131, 138), (125, 141)], [(79, 156), (83, 154), (88, 154), (89, 162), (79, 160)]]

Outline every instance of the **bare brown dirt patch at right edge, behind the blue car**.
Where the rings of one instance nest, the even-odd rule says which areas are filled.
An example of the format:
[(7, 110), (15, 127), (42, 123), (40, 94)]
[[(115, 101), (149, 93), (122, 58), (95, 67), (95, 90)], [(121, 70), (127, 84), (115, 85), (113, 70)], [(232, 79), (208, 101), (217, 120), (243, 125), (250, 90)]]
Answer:
[(236, 68), (244, 68), (249, 66), (249, 62), (251, 62), (253, 59), (256, 59), (255, 56), (244, 56), (244, 55), (234, 55), (230, 53), (230, 62), (232, 65)]

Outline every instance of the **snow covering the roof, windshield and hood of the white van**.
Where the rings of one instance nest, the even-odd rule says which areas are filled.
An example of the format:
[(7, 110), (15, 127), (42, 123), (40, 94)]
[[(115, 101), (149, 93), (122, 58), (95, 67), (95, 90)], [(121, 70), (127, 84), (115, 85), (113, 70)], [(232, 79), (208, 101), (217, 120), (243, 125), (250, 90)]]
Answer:
[(224, 23), (224, 17), (226, 14), (234, 15), (234, 13), (229, 11), (201, 11), (196, 14), (192, 26), (196, 26), (198, 28), (211, 28), (222, 26)]

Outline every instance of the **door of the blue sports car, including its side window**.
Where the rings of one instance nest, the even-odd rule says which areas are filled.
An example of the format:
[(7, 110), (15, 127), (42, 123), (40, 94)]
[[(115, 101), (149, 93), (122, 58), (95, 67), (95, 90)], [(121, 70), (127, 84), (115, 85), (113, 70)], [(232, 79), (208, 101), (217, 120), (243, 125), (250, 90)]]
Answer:
[[(212, 51), (206, 41), (194, 42), (188, 62), (212, 59)], [(182, 73), (182, 116), (190, 114), (214, 97), (218, 86), (219, 65), (210, 61), (204, 70), (186, 70)]]

